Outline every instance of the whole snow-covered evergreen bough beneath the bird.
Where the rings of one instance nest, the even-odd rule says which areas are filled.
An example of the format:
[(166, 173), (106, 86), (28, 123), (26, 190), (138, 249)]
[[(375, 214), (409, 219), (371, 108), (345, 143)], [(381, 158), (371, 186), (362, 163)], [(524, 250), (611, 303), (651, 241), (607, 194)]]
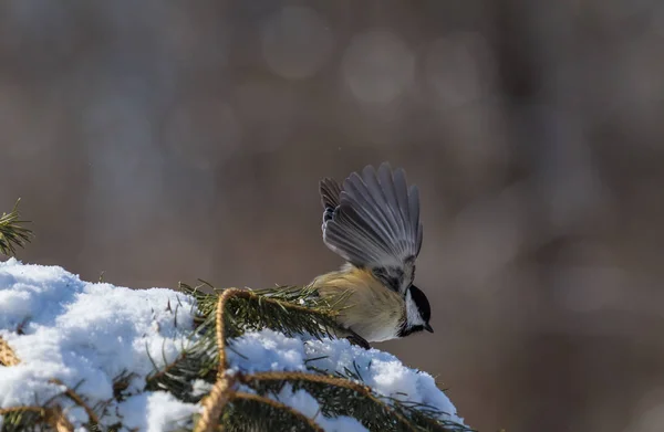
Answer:
[(129, 289), (0, 263), (0, 430), (468, 431), (307, 288)]

